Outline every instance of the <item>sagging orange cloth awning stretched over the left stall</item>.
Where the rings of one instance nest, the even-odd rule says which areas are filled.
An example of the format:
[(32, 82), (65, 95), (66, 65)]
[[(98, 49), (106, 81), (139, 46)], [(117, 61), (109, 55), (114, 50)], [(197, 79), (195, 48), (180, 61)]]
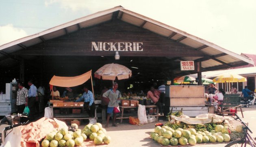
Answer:
[(50, 85), (60, 86), (60, 87), (74, 87), (85, 83), (91, 78), (91, 70), (80, 76), (75, 77), (59, 77), (53, 76), (50, 80)]

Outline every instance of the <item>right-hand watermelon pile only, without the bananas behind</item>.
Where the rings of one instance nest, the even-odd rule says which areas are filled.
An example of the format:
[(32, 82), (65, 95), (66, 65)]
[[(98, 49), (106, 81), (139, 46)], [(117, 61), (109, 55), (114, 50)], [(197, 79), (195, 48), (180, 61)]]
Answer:
[[(241, 132), (241, 127), (231, 132)], [(230, 141), (228, 125), (217, 125), (214, 130), (196, 131), (195, 128), (178, 128), (174, 130), (168, 125), (156, 126), (150, 137), (163, 146), (195, 145), (198, 143), (222, 143)]]

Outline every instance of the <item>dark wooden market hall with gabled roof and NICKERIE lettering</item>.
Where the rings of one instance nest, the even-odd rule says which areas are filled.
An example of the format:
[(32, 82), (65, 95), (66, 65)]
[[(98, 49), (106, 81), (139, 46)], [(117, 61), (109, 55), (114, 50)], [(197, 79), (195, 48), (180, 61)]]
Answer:
[[(180, 61), (194, 61), (194, 70), (181, 70)], [(13, 78), (33, 79), (37, 86), (48, 87), (54, 75), (77, 76), (108, 63), (132, 70), (132, 77), (119, 88), (128, 84), (148, 88), (152, 82), (191, 73), (200, 77), (202, 71), (253, 61), (117, 6), (0, 46), (0, 89)], [(95, 82), (99, 91), (102, 82)]]

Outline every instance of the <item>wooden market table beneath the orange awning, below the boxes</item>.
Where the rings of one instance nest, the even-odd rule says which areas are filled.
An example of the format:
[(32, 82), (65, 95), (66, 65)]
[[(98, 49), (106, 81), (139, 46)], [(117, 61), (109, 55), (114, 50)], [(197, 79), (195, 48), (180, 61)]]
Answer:
[[(97, 119), (96, 111), (97, 111), (98, 107), (99, 107), (98, 105), (95, 105), (94, 119)], [(91, 118), (89, 118), (89, 115), (87, 113), (82, 113), (82, 111), (84, 109), (83, 106), (75, 106), (75, 107), (52, 107), (51, 106), (50, 108), (52, 108), (53, 118), (65, 119), (65, 120), (78, 120), (78, 119), (85, 120), (85, 119), (91, 119)], [(73, 114), (73, 113), (71, 113), (71, 114), (55, 114), (54, 113), (54, 109), (55, 108), (74, 108), (74, 109), (81, 108), (82, 110), (81, 110), (81, 113), (79, 113), (79, 114)]]

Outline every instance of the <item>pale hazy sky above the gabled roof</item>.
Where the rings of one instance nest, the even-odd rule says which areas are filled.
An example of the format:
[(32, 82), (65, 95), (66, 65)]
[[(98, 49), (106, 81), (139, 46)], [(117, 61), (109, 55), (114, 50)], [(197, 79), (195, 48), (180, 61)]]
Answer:
[(0, 0), (0, 45), (114, 6), (256, 54), (255, 0)]

